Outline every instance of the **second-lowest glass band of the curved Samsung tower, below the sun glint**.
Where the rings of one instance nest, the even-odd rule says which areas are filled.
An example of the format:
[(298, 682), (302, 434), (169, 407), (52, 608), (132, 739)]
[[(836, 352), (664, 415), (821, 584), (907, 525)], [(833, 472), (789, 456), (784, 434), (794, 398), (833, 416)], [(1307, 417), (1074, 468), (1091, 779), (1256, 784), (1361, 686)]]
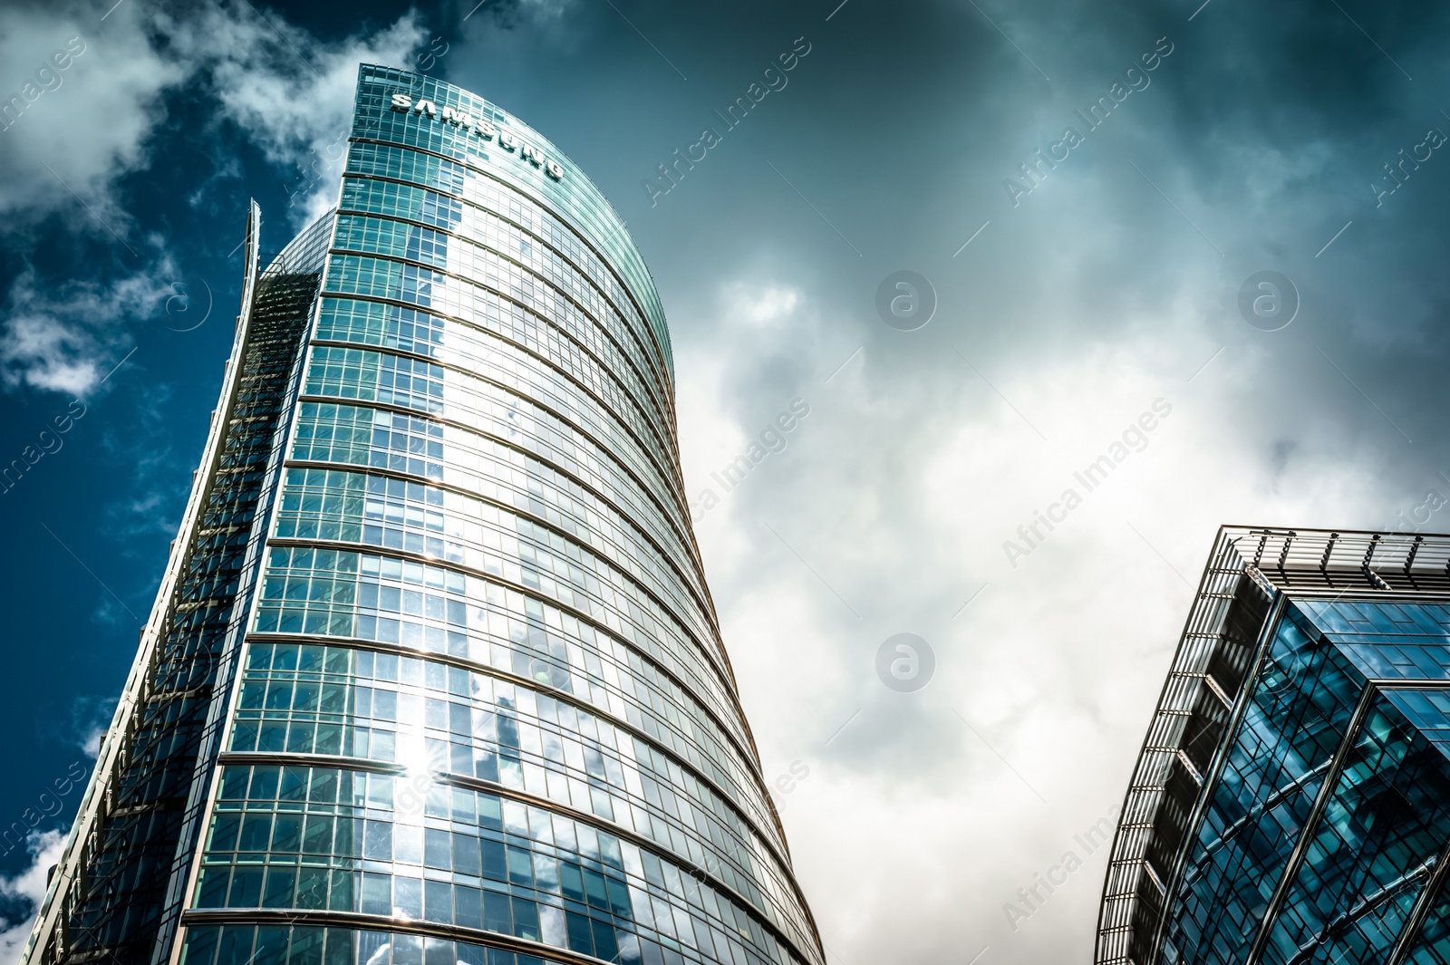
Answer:
[(628, 839), (497, 794), (334, 768), (226, 768), (196, 907), (393, 916), (606, 961), (676, 943), (689, 961), (732, 945), (784, 961), (738, 898)]

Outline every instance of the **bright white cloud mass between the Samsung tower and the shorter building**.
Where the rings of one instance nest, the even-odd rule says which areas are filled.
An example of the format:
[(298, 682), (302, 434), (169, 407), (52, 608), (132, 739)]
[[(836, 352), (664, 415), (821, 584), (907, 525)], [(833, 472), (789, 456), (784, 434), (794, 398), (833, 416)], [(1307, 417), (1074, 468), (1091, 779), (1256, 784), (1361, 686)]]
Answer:
[[(811, 401), (790, 448), (697, 533), (766, 777), (811, 768), (783, 822), (832, 961), (967, 961), (987, 945), (992, 961), (1089, 961), (1106, 851), (1073, 835), (1121, 800), (1192, 596), (1174, 569), (1195, 582), (1224, 522), (1375, 522), (1385, 472), (1344, 452), (1333, 414), (1235, 417), (1277, 365), (1254, 343), (1188, 384), (1217, 348), (1193, 298), (1111, 339), (983, 351), (989, 385), (941, 326), (829, 332), (829, 296), (755, 296), (777, 285), (741, 274), (702, 317), (680, 313), (682, 448), (693, 494), (751, 435), (750, 413)], [(738, 325), (786, 301), (763, 329)], [(1012, 568), (1002, 542), (1080, 490), (1073, 471), (1157, 398), (1173, 410), (1147, 446)], [(1282, 439), (1293, 456), (1276, 464)], [(916, 694), (876, 678), (898, 632), (937, 656)], [(1014, 932), (1002, 906), (1067, 851), (1083, 866)]]

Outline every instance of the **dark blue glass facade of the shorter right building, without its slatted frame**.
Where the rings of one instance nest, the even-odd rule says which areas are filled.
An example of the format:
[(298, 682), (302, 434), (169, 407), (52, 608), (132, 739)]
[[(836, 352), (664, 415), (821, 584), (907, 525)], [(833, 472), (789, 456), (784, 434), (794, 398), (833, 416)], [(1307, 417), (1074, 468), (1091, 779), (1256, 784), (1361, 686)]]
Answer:
[(1446, 606), (1286, 603), (1209, 775), (1160, 962), (1450, 961), (1447, 668)]

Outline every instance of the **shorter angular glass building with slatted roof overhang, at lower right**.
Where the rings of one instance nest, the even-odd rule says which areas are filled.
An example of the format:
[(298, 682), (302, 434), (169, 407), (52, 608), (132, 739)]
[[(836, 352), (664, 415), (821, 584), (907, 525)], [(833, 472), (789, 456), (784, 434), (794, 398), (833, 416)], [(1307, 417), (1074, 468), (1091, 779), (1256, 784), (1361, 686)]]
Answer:
[(1225, 527), (1095, 961), (1450, 962), (1450, 536)]

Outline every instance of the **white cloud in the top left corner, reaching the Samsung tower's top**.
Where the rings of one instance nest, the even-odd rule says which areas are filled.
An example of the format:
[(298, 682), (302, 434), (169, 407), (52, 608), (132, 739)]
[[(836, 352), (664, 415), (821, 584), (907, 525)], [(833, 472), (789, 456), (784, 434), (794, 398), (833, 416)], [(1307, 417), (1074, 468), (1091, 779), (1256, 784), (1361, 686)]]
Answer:
[(39, 96), (0, 133), (0, 213), (25, 223), (71, 210), (80, 196), (96, 212), (91, 230), (104, 220), (125, 235), (110, 187), (149, 164), (146, 139), (165, 120), (167, 94), (197, 88), (215, 99), (213, 117), (241, 126), (270, 161), (310, 170), (313, 156), (336, 159), (357, 65), (409, 62), (423, 32), (415, 12), (373, 35), (323, 42), (251, 4), (170, 14), (132, 3), (104, 22), (88, 6), (10, 4), (0, 10), (0, 93), (25, 101), (25, 84), (70, 38), (83, 52), (54, 72), (54, 90), (32, 87)]

